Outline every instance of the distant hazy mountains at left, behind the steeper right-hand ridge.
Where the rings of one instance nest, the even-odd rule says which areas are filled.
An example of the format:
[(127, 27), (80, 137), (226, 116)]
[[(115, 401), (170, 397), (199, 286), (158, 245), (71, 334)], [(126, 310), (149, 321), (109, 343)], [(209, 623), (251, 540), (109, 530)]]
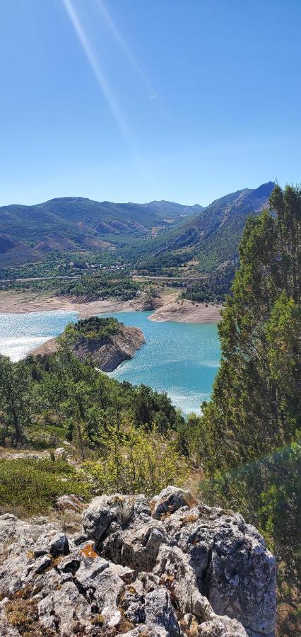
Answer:
[(0, 233), (38, 251), (97, 250), (122, 237), (146, 237), (153, 229), (182, 222), (200, 206), (98, 202), (61, 197), (35, 206), (0, 207)]

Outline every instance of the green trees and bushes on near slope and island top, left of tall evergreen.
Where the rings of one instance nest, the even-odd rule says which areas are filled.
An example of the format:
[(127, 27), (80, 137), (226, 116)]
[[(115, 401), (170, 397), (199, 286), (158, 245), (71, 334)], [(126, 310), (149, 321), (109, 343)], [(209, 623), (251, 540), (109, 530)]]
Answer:
[[(100, 331), (117, 328), (114, 319), (100, 321)], [(78, 332), (87, 335), (92, 327), (95, 319), (80, 321)], [(177, 443), (184, 419), (170, 398), (144, 385), (110, 379), (66, 346), (16, 363), (0, 356), (0, 401), (0, 444), (43, 452), (66, 441), (66, 452), (81, 462), (78, 472), (64, 459), (4, 456), (4, 511), (45, 513), (64, 493), (84, 498), (116, 490), (153, 495), (187, 474)]]

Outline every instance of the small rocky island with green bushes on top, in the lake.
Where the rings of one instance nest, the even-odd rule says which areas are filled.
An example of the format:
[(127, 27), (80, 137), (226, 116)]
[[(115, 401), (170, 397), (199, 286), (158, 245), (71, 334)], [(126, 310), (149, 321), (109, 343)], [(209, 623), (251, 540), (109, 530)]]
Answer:
[(66, 344), (79, 360), (90, 358), (102, 372), (113, 372), (124, 360), (133, 358), (143, 343), (146, 340), (141, 329), (125, 326), (112, 317), (91, 316), (69, 323), (61, 336), (47, 340), (31, 353), (50, 354)]

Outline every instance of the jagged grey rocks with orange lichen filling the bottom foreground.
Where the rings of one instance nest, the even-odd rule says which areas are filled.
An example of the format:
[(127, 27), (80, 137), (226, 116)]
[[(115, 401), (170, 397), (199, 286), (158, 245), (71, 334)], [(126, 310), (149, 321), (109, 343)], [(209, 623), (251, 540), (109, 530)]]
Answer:
[(188, 491), (94, 498), (82, 532), (68, 536), (47, 518), (5, 514), (0, 542), (1, 636), (274, 634), (276, 568), (264, 539)]

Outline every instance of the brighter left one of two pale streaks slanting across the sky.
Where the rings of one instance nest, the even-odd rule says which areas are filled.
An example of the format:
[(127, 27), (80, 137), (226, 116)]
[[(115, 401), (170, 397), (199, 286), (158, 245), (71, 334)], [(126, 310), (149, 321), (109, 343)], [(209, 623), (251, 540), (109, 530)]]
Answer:
[[(92, 47), (90, 46), (90, 42), (88, 41), (88, 37), (85, 33), (85, 31), (83, 30), (83, 27), (81, 25), (81, 22), (78, 18), (78, 14), (76, 13), (76, 10), (72, 4), (72, 0), (62, 0), (66, 11), (69, 15), (69, 18), (71, 20), (71, 23), (73, 25), (74, 30), (76, 31), (76, 35), (78, 37), (79, 42), (81, 42), (81, 46), (83, 47), (83, 51), (85, 53), (85, 56), (88, 59), (88, 62), (90, 63), (90, 67), (93, 70), (93, 73), (96, 77), (96, 79), (98, 80), (98, 84), (100, 85), (100, 88), (102, 90), (102, 93), (104, 94), (107, 103), (110, 105), (110, 109), (112, 111), (112, 114), (114, 115), (115, 120), (117, 121), (117, 124), (119, 126), (120, 131), (122, 132), (122, 136), (124, 137), (124, 139), (126, 140), (126, 143), (129, 145), (129, 148), (131, 149), (131, 151), (133, 152), (133, 154), (137, 155), (136, 149), (134, 148), (134, 144), (133, 144), (133, 139), (132, 139), (132, 135), (131, 132), (129, 131), (129, 128), (126, 125), (126, 122), (124, 120), (124, 117), (119, 109), (119, 105), (117, 104), (116, 99), (114, 98), (114, 95), (112, 93), (112, 90), (107, 82), (107, 79), (105, 78), (105, 75), (100, 67), (100, 64), (98, 62), (97, 57), (95, 57), (95, 54), (93, 52)], [(140, 158), (139, 158), (140, 159)]]

